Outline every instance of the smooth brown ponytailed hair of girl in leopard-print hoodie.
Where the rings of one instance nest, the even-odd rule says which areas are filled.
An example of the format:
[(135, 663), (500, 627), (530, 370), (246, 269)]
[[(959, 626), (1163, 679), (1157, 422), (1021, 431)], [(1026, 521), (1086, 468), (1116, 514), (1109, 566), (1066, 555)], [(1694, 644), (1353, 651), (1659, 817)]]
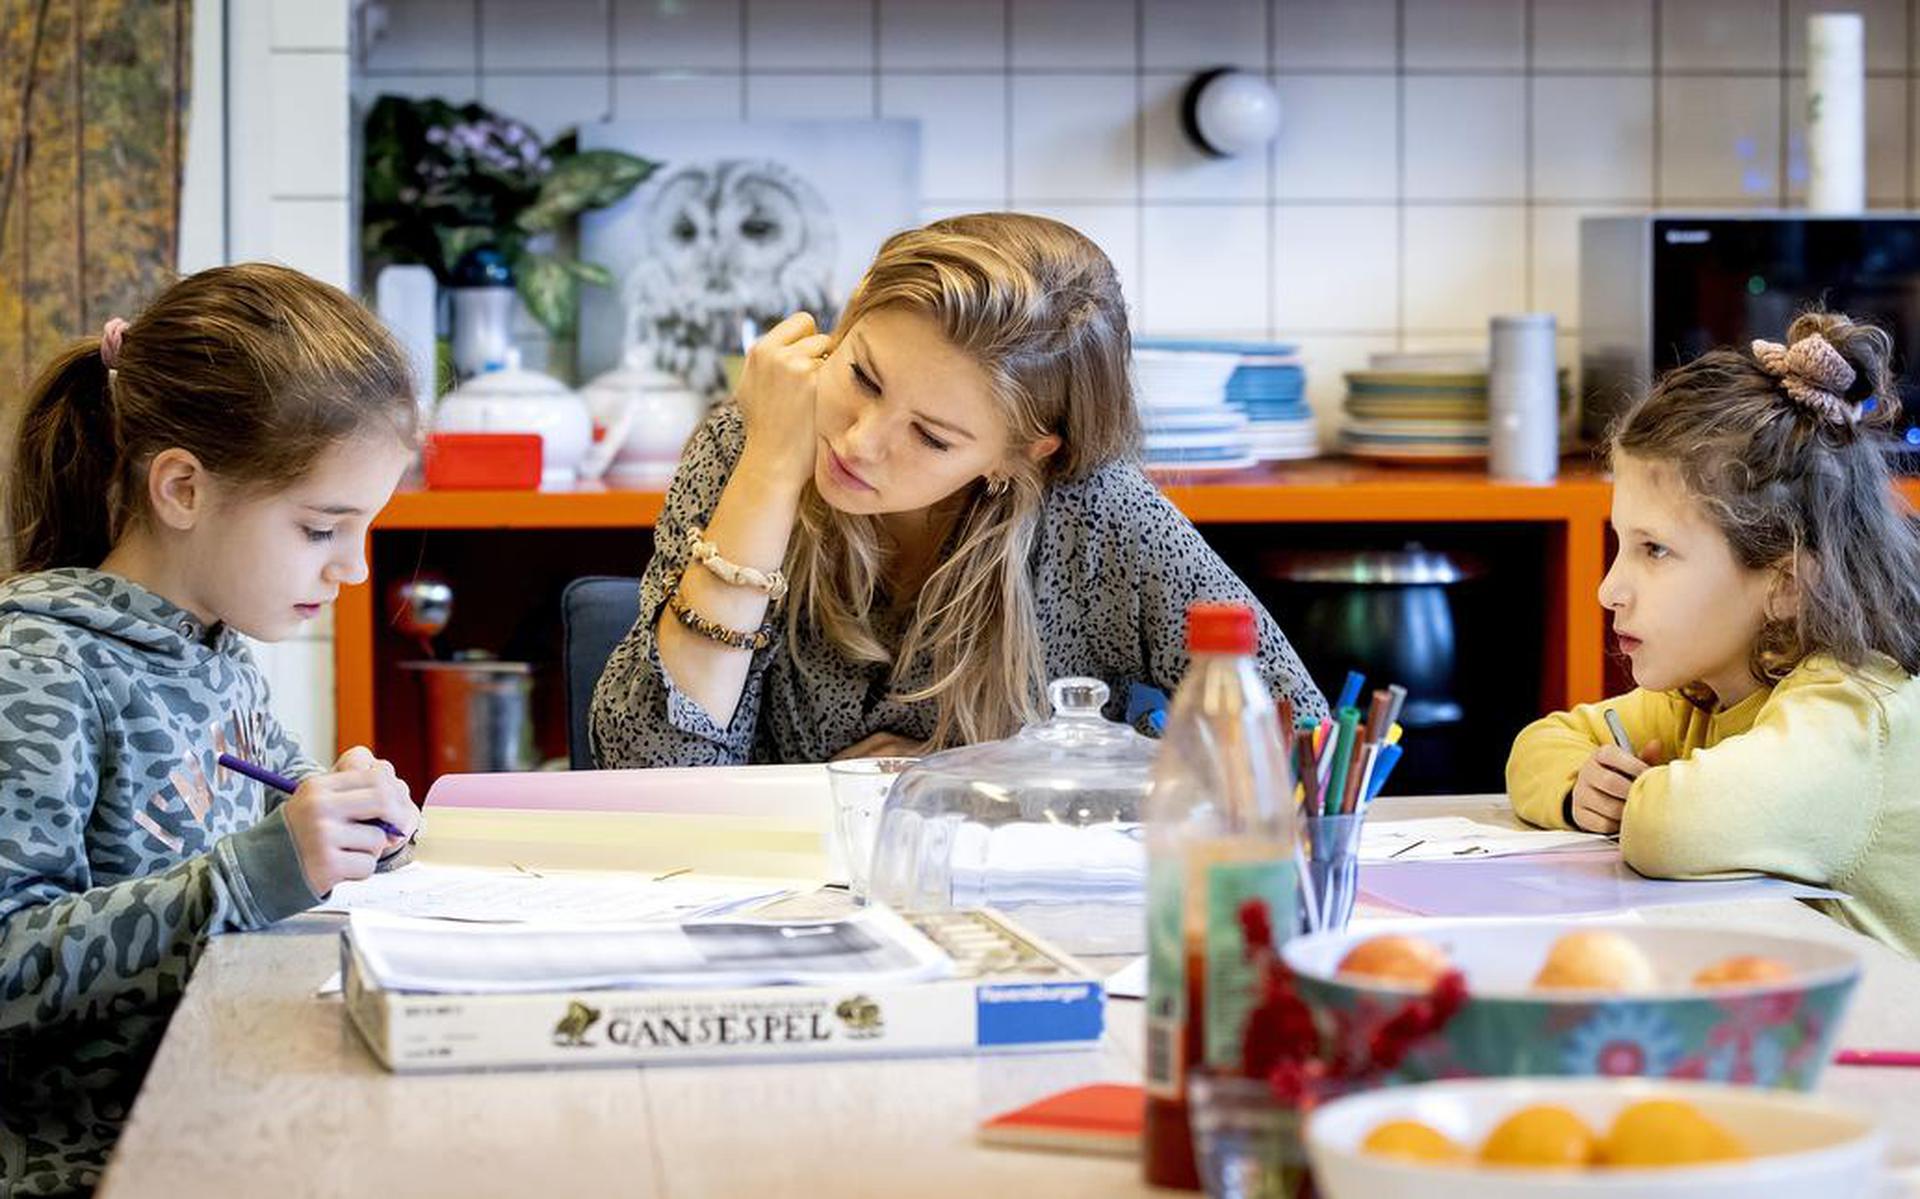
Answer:
[(415, 436), (413, 377), (378, 317), (273, 263), (180, 279), (125, 327), (111, 363), (81, 338), (21, 413), (6, 505), (13, 569), (98, 567), (146, 513), (146, 471), (182, 448), (240, 488), (298, 482), (363, 428)]

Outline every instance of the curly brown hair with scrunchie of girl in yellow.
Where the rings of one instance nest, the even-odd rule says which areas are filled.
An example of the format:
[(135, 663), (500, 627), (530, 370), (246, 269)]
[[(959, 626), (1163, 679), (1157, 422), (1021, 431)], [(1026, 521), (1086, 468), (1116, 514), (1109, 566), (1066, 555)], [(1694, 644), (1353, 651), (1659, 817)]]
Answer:
[[(1611, 452), (1674, 467), (1741, 567), (1791, 573), (1799, 603), (1761, 628), (1757, 682), (1809, 653), (1853, 667), (1885, 653), (1920, 673), (1920, 530), (1887, 465), (1901, 415), (1893, 338), (1811, 311), (1786, 346), (1755, 348), (1665, 375), (1620, 415)], [(1688, 696), (1709, 699), (1697, 686)]]

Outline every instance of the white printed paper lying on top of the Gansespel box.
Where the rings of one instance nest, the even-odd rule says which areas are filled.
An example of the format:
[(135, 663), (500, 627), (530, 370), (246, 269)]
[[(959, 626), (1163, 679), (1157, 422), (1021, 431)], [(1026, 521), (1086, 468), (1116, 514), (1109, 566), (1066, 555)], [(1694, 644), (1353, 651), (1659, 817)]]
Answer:
[(353, 913), (369, 976), (394, 991), (879, 986), (952, 972), (952, 959), (887, 909), (835, 920), (685, 924), (447, 924)]

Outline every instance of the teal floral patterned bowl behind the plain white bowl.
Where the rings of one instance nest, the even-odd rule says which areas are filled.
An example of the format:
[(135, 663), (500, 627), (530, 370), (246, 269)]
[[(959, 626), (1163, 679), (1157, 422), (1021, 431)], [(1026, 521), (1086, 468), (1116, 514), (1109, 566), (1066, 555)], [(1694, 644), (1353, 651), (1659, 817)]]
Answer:
[[(1580, 924), (1578, 928), (1599, 928)], [(1415, 988), (1334, 976), (1346, 951), (1386, 932), (1419, 936), (1467, 976), (1467, 1003), (1415, 1045), (1394, 1082), (1526, 1074), (1647, 1076), (1811, 1091), (1834, 1051), (1860, 961), (1828, 942), (1730, 928), (1613, 924), (1653, 963), (1659, 990), (1540, 991), (1534, 972), (1569, 932), (1544, 920), (1369, 922), (1286, 943), (1300, 997), (1323, 1018), (1367, 1026)], [(1697, 988), (1701, 968), (1734, 955), (1786, 963), (1776, 984)]]

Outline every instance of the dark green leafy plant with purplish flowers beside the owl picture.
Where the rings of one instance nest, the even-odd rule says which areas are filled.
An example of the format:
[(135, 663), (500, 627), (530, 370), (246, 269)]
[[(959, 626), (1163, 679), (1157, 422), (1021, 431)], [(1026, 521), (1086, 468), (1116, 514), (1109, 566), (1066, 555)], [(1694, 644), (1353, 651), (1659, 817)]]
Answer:
[(612, 277), (555, 252), (553, 234), (626, 198), (657, 165), (580, 150), (574, 133), (541, 144), (526, 123), (480, 104), (380, 96), (367, 113), (361, 246), (371, 269), (424, 263), (444, 288), (513, 286), (563, 338), (578, 319), (580, 284), (609, 286)]

